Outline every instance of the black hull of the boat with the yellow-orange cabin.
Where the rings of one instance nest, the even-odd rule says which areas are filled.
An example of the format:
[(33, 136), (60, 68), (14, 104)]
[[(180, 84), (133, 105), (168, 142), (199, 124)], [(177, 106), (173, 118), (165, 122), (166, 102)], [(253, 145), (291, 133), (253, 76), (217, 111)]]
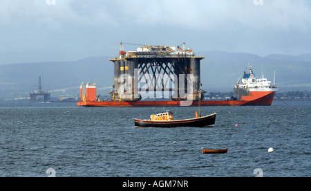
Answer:
[(216, 113), (200, 118), (171, 121), (151, 121), (135, 119), (135, 127), (212, 127), (215, 125)]

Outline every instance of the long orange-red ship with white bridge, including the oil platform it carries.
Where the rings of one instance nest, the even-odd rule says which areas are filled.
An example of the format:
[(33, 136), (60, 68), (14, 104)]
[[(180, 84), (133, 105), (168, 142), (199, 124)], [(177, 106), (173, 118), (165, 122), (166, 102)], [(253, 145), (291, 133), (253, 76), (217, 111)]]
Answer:
[[(265, 78), (256, 79), (252, 67), (241, 75), (230, 100), (202, 100), (200, 60), (183, 46), (139, 46), (136, 51), (124, 51), (120, 44), (114, 64), (114, 84), (111, 100), (96, 98), (96, 84), (82, 84), (80, 102), (84, 107), (162, 107), (162, 106), (241, 106), (271, 105), (277, 87)], [(248, 71), (249, 70), (249, 71)], [(243, 78), (242, 78), (243, 77)], [(241, 80), (242, 78), (242, 80)], [(241, 81), (241, 82), (240, 82)], [(164, 92), (169, 92), (165, 94)], [(162, 98), (165, 98), (163, 100)], [(156, 99), (144, 101), (142, 98)], [(160, 100), (158, 99), (160, 98)]]

